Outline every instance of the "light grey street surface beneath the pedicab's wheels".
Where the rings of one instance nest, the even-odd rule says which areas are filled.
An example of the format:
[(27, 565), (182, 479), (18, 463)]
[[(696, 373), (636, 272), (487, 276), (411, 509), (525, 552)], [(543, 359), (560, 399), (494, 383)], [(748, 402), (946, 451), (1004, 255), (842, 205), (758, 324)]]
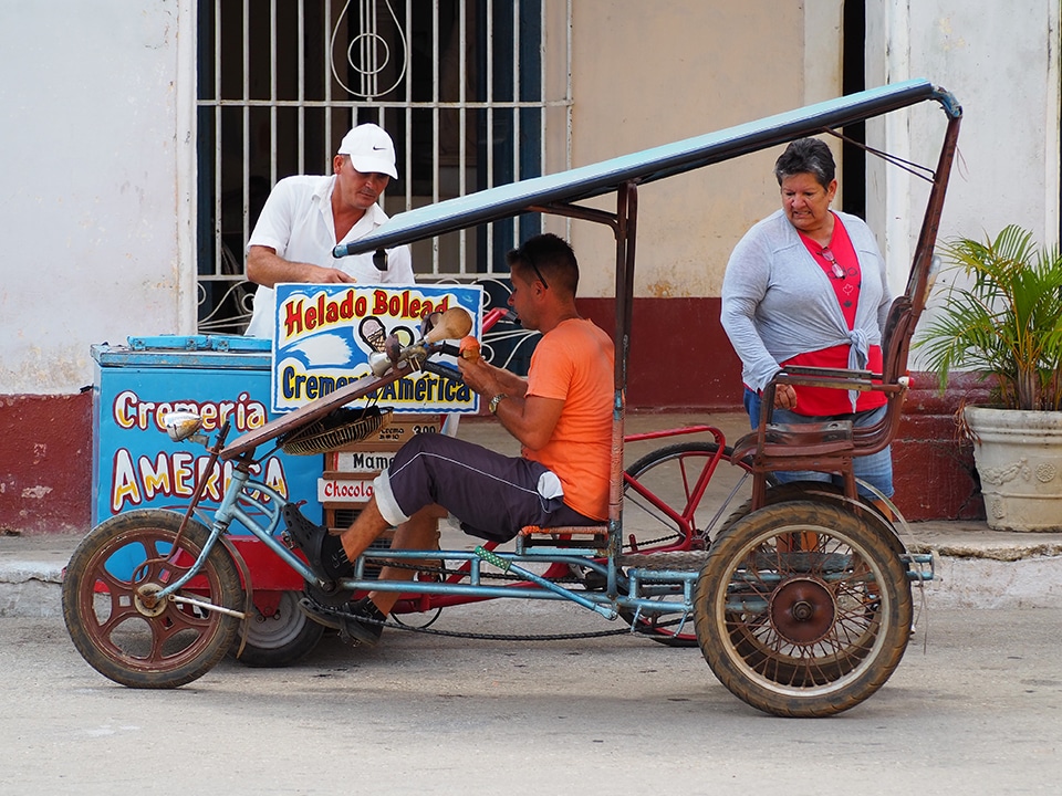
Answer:
[[(771, 719), (698, 649), (627, 633), (556, 641), (325, 636), (282, 669), (226, 658), (173, 691), (125, 689), (62, 619), (0, 619), (0, 793), (858, 794), (1041, 796), (1062, 779), (1062, 610), (938, 609), (881, 691), (834, 719)], [(433, 628), (610, 626), (492, 600)], [(590, 787), (589, 785), (592, 785)]]

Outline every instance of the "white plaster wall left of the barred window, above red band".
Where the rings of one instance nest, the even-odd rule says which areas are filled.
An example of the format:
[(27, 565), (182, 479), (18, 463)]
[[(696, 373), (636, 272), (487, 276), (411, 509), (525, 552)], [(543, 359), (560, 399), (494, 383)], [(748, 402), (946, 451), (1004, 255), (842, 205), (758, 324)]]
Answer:
[(0, 395), (76, 392), (92, 343), (194, 324), (190, 7), (0, 2)]

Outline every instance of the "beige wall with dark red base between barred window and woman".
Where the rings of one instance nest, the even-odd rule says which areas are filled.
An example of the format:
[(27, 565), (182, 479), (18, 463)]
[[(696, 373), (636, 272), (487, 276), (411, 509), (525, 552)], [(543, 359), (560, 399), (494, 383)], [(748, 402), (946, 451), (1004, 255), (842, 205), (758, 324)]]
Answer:
[[(654, 8), (574, 4), (573, 166), (842, 93), (841, 0)], [(631, 407), (740, 406), (741, 367), (718, 322), (719, 293), (735, 243), (778, 208), (777, 156), (757, 153), (639, 189)], [(598, 205), (614, 209), (613, 201)], [(571, 240), (581, 294), (601, 297), (586, 311), (611, 328), (614, 243), (593, 224), (572, 224)]]

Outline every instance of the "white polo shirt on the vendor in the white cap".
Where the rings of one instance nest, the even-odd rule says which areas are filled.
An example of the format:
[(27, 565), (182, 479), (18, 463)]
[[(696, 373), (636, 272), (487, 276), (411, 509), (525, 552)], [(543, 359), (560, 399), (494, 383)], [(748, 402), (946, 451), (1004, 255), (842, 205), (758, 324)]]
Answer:
[[(335, 175), (285, 177), (280, 180), (254, 224), (247, 244), (248, 251), (252, 245), (269, 247), (284, 260), (341, 269), (357, 280), (356, 284), (360, 285), (413, 284), (413, 258), (408, 247), (387, 250), (386, 271), (376, 270), (373, 252), (339, 260), (332, 256), (332, 249), (336, 244), (364, 238), (387, 220), (387, 213), (378, 205), (373, 205), (343, 240), (337, 241), (332, 219), (334, 186)], [(259, 285), (254, 293), (254, 313), (246, 334), (249, 337), (272, 337), (275, 314), (275, 292)]]

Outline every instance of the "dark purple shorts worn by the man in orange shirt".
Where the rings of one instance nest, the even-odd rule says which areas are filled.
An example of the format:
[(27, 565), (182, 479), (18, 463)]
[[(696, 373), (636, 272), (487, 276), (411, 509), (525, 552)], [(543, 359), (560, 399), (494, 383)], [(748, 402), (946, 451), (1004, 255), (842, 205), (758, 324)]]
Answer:
[[(523, 458), (506, 457), (445, 434), (421, 433), (395, 454), (376, 480), (376, 505), (397, 525), (420, 509), (438, 504), (457, 517), (461, 530), (493, 542), (508, 542), (524, 525), (600, 525), (540, 494), (549, 470)], [(553, 476), (555, 478), (555, 476)]]

